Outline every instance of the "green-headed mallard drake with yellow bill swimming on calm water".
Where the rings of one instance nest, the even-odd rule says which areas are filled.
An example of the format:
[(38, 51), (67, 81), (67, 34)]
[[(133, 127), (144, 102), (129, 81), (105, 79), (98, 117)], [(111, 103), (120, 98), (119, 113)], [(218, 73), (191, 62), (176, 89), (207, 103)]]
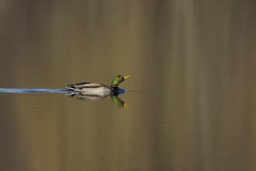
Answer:
[(124, 82), (124, 80), (131, 78), (132, 75), (117, 75), (112, 83), (111, 86), (105, 86), (103, 84), (100, 83), (91, 83), (91, 82), (81, 82), (81, 83), (77, 83), (77, 84), (69, 84), (68, 85), (68, 90), (72, 90), (75, 92), (86, 92), (86, 94), (109, 94), (110, 92), (114, 92), (116, 90), (118, 90), (118, 86), (119, 84), (121, 84), (121, 82)]

